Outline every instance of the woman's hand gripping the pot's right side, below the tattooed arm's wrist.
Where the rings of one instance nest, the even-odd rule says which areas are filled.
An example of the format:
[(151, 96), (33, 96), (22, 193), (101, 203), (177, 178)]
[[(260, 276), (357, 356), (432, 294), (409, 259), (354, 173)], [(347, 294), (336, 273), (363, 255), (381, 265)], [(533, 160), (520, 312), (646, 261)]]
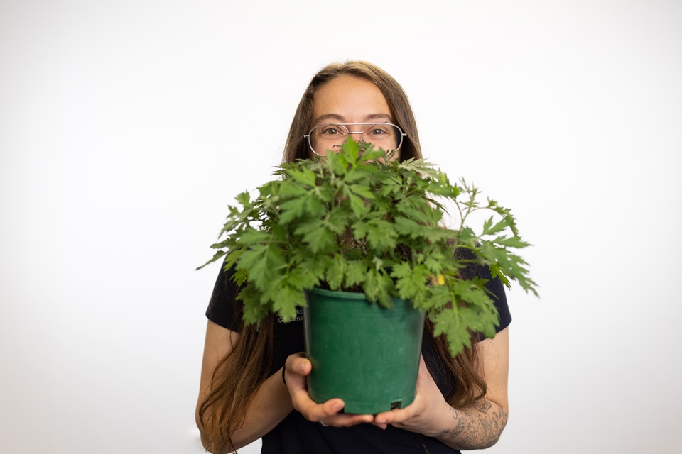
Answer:
[(404, 409), (384, 411), (374, 417), (374, 426), (386, 428), (389, 424), (406, 431), (433, 436), (434, 422), (440, 418), (451, 418), (450, 405), (445, 401), (438, 385), (433, 381), (422, 356), (419, 360), (417, 390), (414, 401)]

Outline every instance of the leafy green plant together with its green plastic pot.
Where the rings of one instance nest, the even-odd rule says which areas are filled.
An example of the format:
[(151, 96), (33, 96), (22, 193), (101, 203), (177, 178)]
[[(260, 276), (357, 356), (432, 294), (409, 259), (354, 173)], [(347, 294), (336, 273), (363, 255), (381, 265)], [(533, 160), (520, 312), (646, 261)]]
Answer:
[[(229, 206), (224, 239), (207, 262), (227, 255), (224, 266), (235, 267), (245, 323), (269, 312), (291, 320), (304, 308), (310, 397), (341, 397), (348, 413), (412, 401), (424, 316), (452, 355), (471, 346), (472, 332), (494, 336), (498, 316), (485, 281), (460, 277), (472, 260), (504, 284), (514, 280), (536, 293), (514, 252), (529, 244), (509, 209), (491, 199), (482, 204), (474, 186), (451, 183), (424, 160), (393, 158), (350, 139), (338, 153), (279, 165), (255, 199), (243, 192), (239, 206)], [(442, 225), (450, 205), (456, 228)], [(481, 210), (492, 217), (475, 231), (467, 218)], [(340, 332), (345, 325), (351, 333)], [(369, 375), (371, 365), (379, 376)], [(372, 396), (380, 402), (368, 402)]]

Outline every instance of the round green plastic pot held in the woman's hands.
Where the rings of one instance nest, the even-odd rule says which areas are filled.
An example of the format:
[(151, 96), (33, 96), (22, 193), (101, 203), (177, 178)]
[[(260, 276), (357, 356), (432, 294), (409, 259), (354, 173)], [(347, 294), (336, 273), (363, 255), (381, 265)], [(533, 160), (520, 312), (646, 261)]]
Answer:
[(308, 394), (339, 397), (345, 413), (377, 414), (412, 403), (424, 314), (410, 301), (385, 309), (362, 293), (313, 289), (303, 309), (305, 349), (313, 370)]

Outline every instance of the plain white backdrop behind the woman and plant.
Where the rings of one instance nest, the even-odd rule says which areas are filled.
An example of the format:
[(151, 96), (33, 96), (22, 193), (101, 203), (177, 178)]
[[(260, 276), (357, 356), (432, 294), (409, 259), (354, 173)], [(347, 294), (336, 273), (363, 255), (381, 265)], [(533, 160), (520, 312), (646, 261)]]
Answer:
[(534, 244), (489, 452), (682, 452), (682, 4), (262, 3), (0, 0), (0, 452), (202, 452), (194, 268), (347, 59)]

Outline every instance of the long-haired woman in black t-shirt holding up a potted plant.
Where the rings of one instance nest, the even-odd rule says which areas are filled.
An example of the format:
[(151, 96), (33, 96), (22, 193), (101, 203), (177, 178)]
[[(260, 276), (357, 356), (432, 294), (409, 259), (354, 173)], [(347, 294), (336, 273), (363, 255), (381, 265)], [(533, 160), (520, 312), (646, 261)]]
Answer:
[[(421, 157), (407, 96), (389, 74), (367, 62), (329, 65), (313, 77), (291, 124), (284, 160), (322, 154), (313, 137), (316, 126), (328, 123), (349, 125), (345, 135), (358, 134), (357, 140), (371, 140), (359, 123), (394, 124), (406, 133), (396, 144), (398, 159)], [(483, 267), (465, 273), (490, 279)], [(317, 404), (308, 397), (311, 365), (301, 353), (300, 319), (281, 323), (270, 317), (259, 329), (243, 326), (231, 277), (221, 270), (207, 310), (197, 425), (211, 452), (236, 450), (258, 438), (263, 453), (287, 454), (454, 453), (498, 440), (508, 414), (511, 321), (498, 279), (487, 284), (497, 297), (497, 336), (453, 359), (445, 340), (433, 338), (433, 326), (426, 323), (414, 402), (357, 415), (344, 414), (341, 399)]]

